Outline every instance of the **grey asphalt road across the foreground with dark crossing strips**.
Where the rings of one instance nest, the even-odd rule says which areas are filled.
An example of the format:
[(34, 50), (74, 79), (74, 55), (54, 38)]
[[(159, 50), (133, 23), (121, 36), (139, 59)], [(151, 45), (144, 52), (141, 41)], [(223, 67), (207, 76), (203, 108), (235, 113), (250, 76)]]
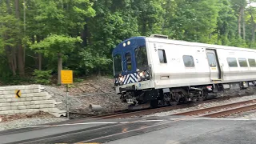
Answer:
[(0, 133), (0, 143), (256, 143), (256, 120), (185, 117), (78, 120)]

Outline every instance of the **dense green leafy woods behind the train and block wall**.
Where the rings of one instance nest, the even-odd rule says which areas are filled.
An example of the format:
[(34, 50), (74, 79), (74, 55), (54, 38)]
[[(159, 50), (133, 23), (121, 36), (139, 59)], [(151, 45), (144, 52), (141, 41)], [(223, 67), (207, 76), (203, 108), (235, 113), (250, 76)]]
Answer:
[[(23, 2), (0, 0), (2, 82), (18, 82), (19, 62), (24, 62), (26, 75), (38, 75), (37, 82), (42, 75), (56, 75), (62, 67), (74, 70), (76, 77), (112, 74), (114, 47), (140, 35), (166, 34), (190, 42), (256, 46), (256, 8), (250, 6), (255, 0)], [(38, 69), (42, 71), (34, 72)]]

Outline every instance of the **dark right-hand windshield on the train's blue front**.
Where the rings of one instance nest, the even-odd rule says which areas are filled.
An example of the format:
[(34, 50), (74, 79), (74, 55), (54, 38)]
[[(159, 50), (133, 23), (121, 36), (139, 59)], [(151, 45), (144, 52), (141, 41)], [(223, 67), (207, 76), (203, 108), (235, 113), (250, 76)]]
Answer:
[(141, 70), (148, 65), (147, 55), (146, 55), (146, 46), (141, 46), (135, 50), (135, 58), (136, 58), (137, 69)]

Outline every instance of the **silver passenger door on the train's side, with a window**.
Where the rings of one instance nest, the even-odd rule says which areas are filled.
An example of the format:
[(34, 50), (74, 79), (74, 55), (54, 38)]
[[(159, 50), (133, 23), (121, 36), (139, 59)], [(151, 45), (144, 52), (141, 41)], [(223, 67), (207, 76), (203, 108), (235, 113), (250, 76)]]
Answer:
[(209, 67), (210, 67), (210, 79), (213, 81), (220, 80), (220, 69), (218, 63), (218, 56), (215, 50), (206, 50)]

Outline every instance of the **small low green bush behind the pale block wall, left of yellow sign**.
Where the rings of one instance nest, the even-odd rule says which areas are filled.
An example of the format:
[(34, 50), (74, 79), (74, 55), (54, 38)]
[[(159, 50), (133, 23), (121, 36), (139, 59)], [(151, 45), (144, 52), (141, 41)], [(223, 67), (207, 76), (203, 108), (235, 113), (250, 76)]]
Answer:
[(34, 70), (34, 82), (42, 85), (49, 85), (52, 70)]

